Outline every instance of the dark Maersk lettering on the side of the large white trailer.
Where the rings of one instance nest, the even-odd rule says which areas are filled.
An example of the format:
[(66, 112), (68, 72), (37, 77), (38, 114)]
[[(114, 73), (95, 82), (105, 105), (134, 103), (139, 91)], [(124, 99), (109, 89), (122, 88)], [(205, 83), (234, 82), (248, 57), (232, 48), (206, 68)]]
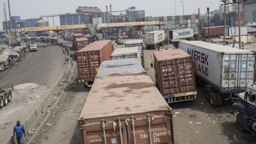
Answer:
[(196, 68), (196, 71), (208, 76), (209, 75), (209, 69), (207, 66), (209, 66), (208, 63), (208, 57), (209, 55), (206, 53), (199, 52), (197, 50), (191, 50), (187, 49), (187, 53), (193, 57), (194, 60), (197, 62), (200, 62), (197, 65), (194, 65)]

